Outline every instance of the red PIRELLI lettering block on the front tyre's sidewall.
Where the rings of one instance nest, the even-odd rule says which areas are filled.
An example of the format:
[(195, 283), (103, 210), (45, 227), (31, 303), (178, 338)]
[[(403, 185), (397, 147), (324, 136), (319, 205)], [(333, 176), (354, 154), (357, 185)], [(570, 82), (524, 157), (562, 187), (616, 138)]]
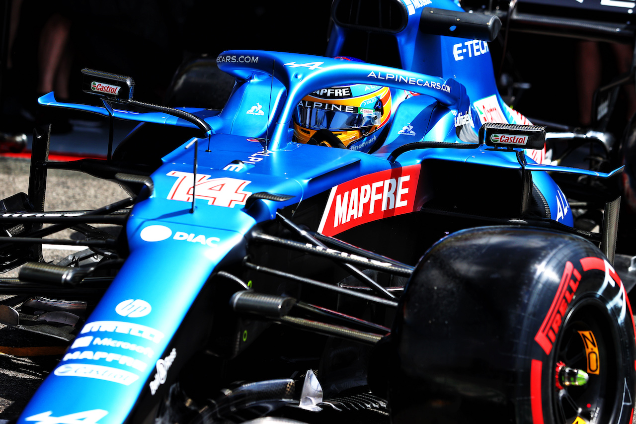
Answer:
[(572, 301), (574, 293), (576, 293), (579, 281), (581, 281), (581, 273), (574, 268), (572, 262), (567, 261), (561, 282), (558, 285), (555, 298), (552, 300), (548, 314), (546, 314), (541, 327), (539, 327), (539, 331), (537, 331), (536, 336), (534, 336), (534, 341), (539, 343), (539, 346), (543, 348), (546, 355), (550, 355), (552, 344), (556, 340), (556, 334), (558, 334), (558, 330), (561, 328), (563, 316), (565, 316), (567, 306)]

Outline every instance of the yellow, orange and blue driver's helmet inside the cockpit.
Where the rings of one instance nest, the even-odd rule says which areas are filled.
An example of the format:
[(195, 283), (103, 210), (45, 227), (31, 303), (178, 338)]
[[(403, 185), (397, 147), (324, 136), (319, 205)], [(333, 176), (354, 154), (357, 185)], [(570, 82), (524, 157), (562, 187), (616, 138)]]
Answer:
[[(298, 104), (294, 112), (294, 138), (298, 143), (369, 152), (378, 139), (378, 130), (389, 122), (389, 117), (389, 87), (354, 84), (321, 88)], [(335, 137), (328, 134), (325, 139), (321, 130), (328, 130)], [(316, 134), (318, 131), (321, 132)]]

